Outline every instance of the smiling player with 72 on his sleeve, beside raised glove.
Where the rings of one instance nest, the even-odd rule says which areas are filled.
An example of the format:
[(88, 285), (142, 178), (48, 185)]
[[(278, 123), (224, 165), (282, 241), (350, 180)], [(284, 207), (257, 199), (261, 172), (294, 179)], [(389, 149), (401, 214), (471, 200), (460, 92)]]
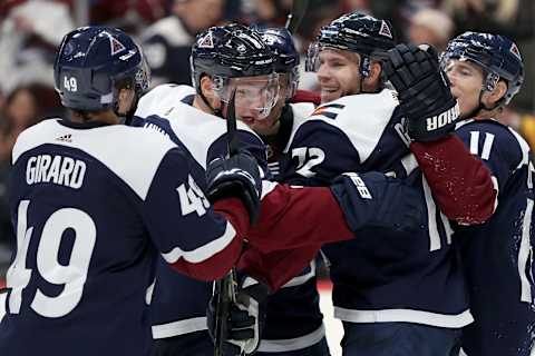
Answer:
[[(430, 66), (432, 56), (419, 49), (411, 53), (438, 86), (427, 89), (437, 90), (417, 91), (421, 96), (411, 100), (400, 91), (398, 105), (397, 95), (381, 86), (378, 56), (393, 46), (387, 21), (360, 13), (342, 16), (321, 30), (309, 65), (318, 71), (324, 103), (292, 138), (295, 169), (289, 178), (327, 185), (351, 167), (406, 177), (418, 187), (427, 210), (418, 234), (363, 229), (364, 239), (323, 248), (331, 264), (334, 316), (344, 327), (343, 355), (449, 356), (458, 352), (460, 329), (473, 318), (448, 218), (484, 222), (493, 212), (495, 191), (488, 169), (449, 135), (456, 102), (437, 66)], [(436, 117), (449, 119), (435, 126), (422, 119)], [(416, 157), (408, 148), (412, 140), (429, 141), (410, 144)], [(422, 179), (417, 161), (430, 179)]]

